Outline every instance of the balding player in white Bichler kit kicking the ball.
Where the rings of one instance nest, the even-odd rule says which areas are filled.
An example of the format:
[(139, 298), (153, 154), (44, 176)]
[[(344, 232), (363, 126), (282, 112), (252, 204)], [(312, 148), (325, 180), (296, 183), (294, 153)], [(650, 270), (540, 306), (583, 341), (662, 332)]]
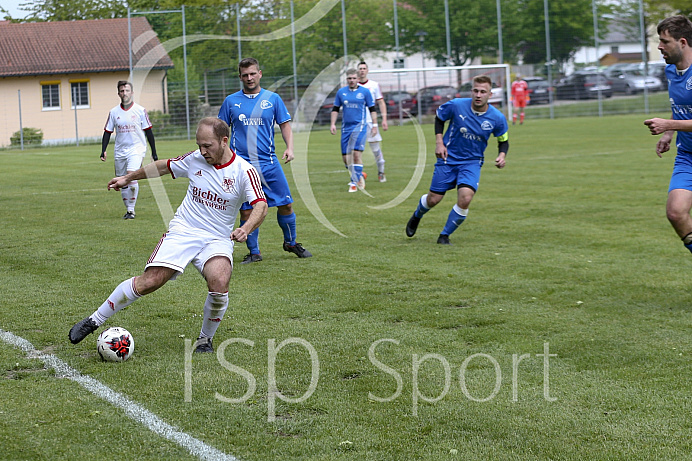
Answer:
[[(189, 185), (144, 273), (123, 281), (93, 314), (77, 322), (69, 333), (73, 344), (96, 331), (116, 312), (175, 279), (192, 262), (209, 291), (195, 352), (214, 352), (212, 339), (228, 308), (233, 244), (246, 241), (267, 215), (259, 174), (229, 148), (229, 136), (223, 120), (204, 118), (197, 127), (196, 151), (158, 160), (110, 180), (108, 189), (113, 190), (121, 190), (132, 181), (166, 174), (174, 179), (188, 178)], [(242, 226), (234, 228), (243, 202), (252, 204), (252, 213)]]

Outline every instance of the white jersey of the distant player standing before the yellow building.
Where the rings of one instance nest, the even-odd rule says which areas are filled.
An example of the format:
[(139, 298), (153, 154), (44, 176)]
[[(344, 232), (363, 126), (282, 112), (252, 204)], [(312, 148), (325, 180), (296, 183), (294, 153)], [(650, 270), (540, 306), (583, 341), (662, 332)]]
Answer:
[(105, 131), (113, 133), (115, 131), (115, 152), (114, 156), (129, 157), (139, 155), (144, 157), (147, 153), (146, 137), (144, 130), (151, 128), (149, 115), (144, 107), (133, 103), (129, 109), (125, 110), (120, 104), (111, 109), (108, 113)]

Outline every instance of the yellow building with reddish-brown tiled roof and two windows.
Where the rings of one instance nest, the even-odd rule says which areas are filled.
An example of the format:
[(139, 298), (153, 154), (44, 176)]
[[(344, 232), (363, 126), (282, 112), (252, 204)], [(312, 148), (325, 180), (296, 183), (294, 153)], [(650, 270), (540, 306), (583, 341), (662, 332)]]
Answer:
[[(150, 69), (133, 82), (135, 101), (167, 112), (166, 72), (173, 61), (146, 18), (132, 18), (131, 30), (135, 75)], [(22, 126), (43, 130), (44, 143), (74, 141), (77, 132), (80, 139), (100, 138), (119, 102), (116, 84), (129, 80), (128, 40), (127, 18), (0, 21), (0, 146), (19, 131), (20, 111)]]

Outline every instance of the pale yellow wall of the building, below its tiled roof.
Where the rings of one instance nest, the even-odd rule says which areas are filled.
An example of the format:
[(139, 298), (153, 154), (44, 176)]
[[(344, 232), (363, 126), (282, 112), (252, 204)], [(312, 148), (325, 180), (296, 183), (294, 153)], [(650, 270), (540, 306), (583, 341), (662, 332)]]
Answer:
[[(103, 72), (94, 74), (42, 75), (39, 77), (0, 78), (0, 147), (10, 145), (10, 137), (21, 126), (43, 130), (45, 144), (100, 139), (108, 117), (108, 111), (120, 103), (116, 85), (119, 80), (128, 80), (128, 72)], [(147, 111), (165, 112), (165, 71), (152, 70), (143, 88), (134, 88), (135, 102)], [(89, 106), (72, 108), (71, 82), (88, 81)], [(60, 108), (44, 109), (41, 82), (57, 82), (60, 88)], [(156, 133), (156, 127), (154, 127)]]

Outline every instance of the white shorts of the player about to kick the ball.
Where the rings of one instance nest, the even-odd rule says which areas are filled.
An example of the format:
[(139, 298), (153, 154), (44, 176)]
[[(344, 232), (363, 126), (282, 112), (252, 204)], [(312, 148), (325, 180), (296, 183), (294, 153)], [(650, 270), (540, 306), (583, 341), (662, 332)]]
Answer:
[(220, 238), (208, 233), (185, 233), (175, 229), (169, 230), (156, 245), (144, 270), (149, 266), (163, 266), (175, 269), (178, 274), (171, 280), (182, 274), (190, 262), (202, 273), (204, 265), (214, 256), (225, 256), (233, 267), (234, 241), (229, 238)]

